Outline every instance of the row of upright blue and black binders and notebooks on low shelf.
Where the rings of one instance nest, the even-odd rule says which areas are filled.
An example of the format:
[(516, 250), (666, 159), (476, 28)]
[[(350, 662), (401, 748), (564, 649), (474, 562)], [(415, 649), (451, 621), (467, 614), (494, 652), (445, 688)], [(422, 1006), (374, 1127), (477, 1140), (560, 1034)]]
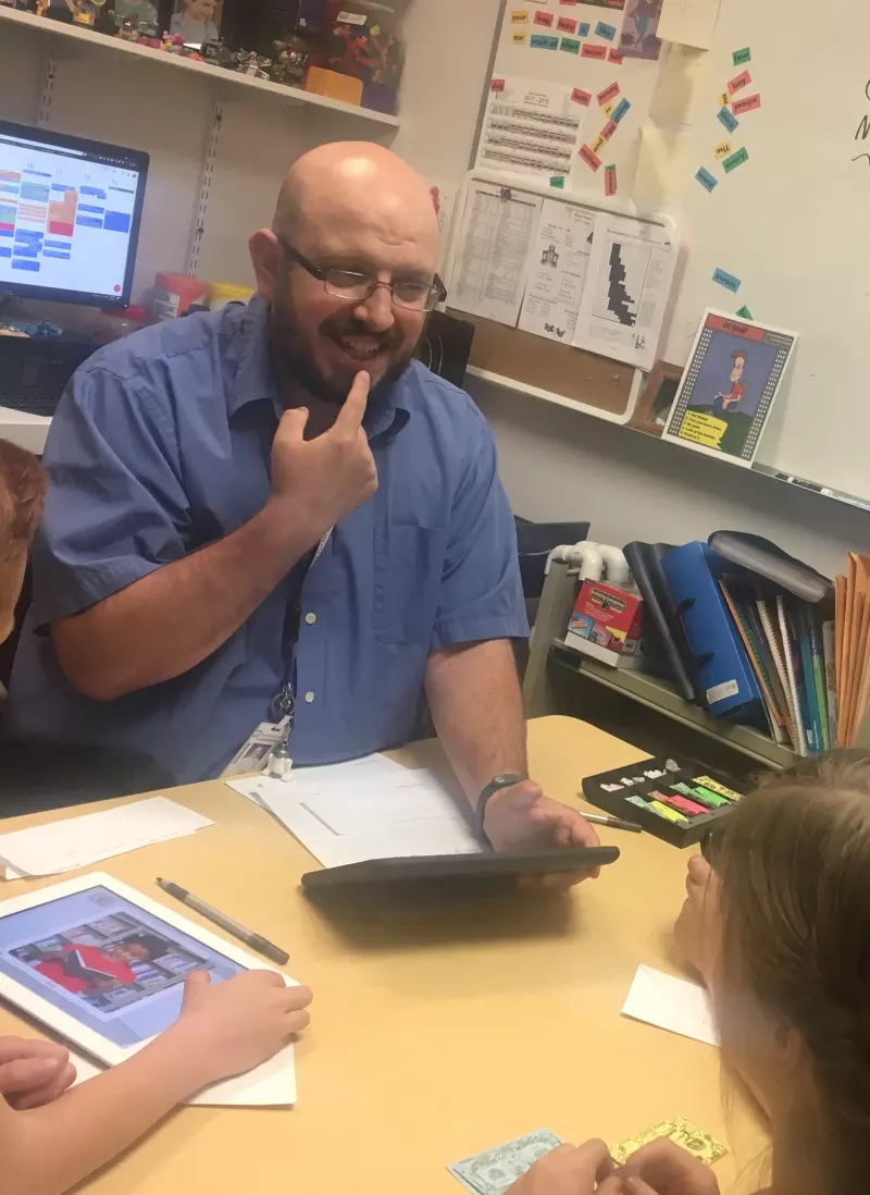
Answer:
[[(741, 532), (680, 547), (629, 544), (625, 556), (643, 594), (649, 670), (670, 674), (710, 717), (766, 727), (796, 755), (843, 741), (840, 615), (827, 577)], [(850, 578), (862, 612), (853, 623), (864, 669), (852, 684), (863, 712), (870, 704), (870, 557), (854, 558)], [(844, 581), (844, 607), (847, 588)]]

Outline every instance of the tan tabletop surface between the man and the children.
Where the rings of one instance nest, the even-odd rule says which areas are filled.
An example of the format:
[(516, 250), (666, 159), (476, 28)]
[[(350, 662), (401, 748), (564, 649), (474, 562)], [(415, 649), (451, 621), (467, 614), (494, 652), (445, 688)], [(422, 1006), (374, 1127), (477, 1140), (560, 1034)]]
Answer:
[[(566, 802), (584, 774), (643, 758), (562, 717), (530, 724), (530, 754), (532, 774)], [(443, 760), (432, 743), (397, 758)], [(300, 876), (316, 864), (269, 814), (221, 782), (171, 795), (216, 826), (91, 870), (178, 911), (154, 884), (167, 876), (290, 952), (289, 970), (315, 993), (296, 1052), (298, 1104), (184, 1109), (88, 1193), (458, 1195), (448, 1163), (523, 1133), (616, 1144), (674, 1114), (730, 1136), (740, 1168), (758, 1152), (741, 1108), (723, 1111), (716, 1049), (619, 1016), (638, 963), (675, 969), (668, 946), (687, 852), (601, 829), (621, 860), (567, 897), (339, 919), (301, 895)], [(25, 890), (2, 883), (0, 897)], [(36, 1030), (0, 1007), (2, 1032)], [(729, 1189), (734, 1154), (716, 1169)]]

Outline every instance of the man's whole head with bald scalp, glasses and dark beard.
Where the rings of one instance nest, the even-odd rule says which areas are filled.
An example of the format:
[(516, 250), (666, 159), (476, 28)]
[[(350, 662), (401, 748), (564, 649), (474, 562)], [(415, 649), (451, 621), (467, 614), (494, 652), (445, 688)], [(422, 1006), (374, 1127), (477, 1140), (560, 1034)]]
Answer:
[(364, 369), (377, 404), (413, 360), (438, 293), (438, 217), (420, 176), (381, 146), (320, 146), (288, 174), (251, 257), (296, 402), (338, 409)]

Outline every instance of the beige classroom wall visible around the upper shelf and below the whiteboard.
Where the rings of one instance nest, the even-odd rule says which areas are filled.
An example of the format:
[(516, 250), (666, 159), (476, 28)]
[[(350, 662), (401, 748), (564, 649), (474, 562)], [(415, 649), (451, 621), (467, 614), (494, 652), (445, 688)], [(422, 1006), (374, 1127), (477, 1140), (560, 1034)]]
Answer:
[[(402, 128), (393, 145), (428, 177), (458, 180), (468, 167), (499, 7), (499, 0), (417, 0), (412, 10)], [(0, 115), (36, 121), (45, 42), (4, 30)], [(136, 275), (142, 287), (155, 270), (184, 263), (211, 96), (160, 65), (111, 63), (91, 49), (60, 62), (53, 124), (154, 154)], [(246, 232), (270, 217), (284, 164), (315, 140), (370, 136), (378, 125), (271, 100), (230, 102), (226, 117), (203, 274), (241, 278)], [(843, 566), (847, 547), (870, 551), (870, 516), (860, 511), (526, 396), (482, 384), (471, 390), (495, 431), (514, 509), (526, 517), (590, 517), (593, 535), (616, 544), (757, 531), (826, 572)]]

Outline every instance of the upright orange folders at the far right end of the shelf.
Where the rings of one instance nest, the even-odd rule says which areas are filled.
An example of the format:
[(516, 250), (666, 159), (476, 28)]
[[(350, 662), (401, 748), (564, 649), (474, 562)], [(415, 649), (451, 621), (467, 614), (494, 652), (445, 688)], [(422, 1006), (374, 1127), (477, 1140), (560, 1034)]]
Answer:
[(870, 705), (870, 556), (849, 553), (835, 584), (837, 746), (854, 747)]

